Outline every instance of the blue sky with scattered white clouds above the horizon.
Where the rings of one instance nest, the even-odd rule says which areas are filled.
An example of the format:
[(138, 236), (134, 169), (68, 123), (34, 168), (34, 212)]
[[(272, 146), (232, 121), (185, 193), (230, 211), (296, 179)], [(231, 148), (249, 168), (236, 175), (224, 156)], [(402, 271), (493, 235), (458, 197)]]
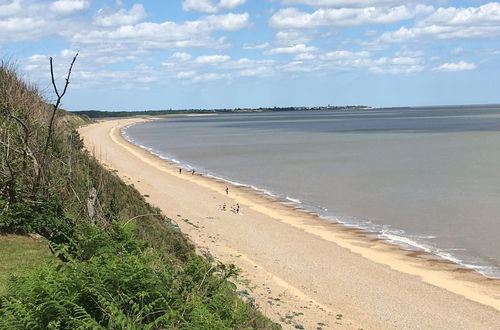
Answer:
[(500, 103), (500, 2), (0, 0), (0, 58), (63, 108)]

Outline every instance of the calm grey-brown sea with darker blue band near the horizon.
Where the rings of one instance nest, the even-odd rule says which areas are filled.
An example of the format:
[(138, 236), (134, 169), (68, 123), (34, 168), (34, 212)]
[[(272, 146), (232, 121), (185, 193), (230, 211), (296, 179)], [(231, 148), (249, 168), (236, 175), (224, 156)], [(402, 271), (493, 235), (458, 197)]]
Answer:
[(500, 278), (500, 106), (185, 116), (132, 142)]

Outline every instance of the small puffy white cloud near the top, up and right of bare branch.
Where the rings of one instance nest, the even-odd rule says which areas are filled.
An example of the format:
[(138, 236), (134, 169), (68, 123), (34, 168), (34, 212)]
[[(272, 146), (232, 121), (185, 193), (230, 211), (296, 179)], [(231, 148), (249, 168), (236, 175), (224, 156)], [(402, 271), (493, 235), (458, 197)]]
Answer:
[(118, 10), (111, 10), (108, 8), (99, 9), (94, 18), (94, 22), (98, 26), (113, 27), (135, 24), (142, 21), (146, 16), (147, 14), (143, 5), (135, 4), (130, 10), (124, 8)]

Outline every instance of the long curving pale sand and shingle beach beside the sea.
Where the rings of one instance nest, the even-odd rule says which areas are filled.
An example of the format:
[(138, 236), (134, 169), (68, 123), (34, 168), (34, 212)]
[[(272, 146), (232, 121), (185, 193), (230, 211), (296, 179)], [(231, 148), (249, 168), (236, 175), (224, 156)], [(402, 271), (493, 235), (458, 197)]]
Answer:
[[(200, 253), (233, 263), (242, 296), (284, 328), (500, 329), (500, 280), (179, 170), (120, 129), (80, 129), (88, 150), (173, 219)], [(226, 194), (226, 187), (228, 193)], [(222, 211), (220, 205), (228, 210)], [(229, 211), (240, 205), (240, 213)]]

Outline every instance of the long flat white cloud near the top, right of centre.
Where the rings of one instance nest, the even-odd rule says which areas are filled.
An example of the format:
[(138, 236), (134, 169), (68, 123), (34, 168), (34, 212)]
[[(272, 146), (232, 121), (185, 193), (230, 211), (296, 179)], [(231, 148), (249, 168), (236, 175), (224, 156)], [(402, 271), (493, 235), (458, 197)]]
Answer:
[(427, 5), (397, 6), (392, 8), (340, 8), (318, 9), (313, 13), (301, 12), (296, 8), (285, 8), (270, 19), (274, 28), (314, 28), (321, 26), (360, 26), (389, 24), (428, 14), (434, 10)]

